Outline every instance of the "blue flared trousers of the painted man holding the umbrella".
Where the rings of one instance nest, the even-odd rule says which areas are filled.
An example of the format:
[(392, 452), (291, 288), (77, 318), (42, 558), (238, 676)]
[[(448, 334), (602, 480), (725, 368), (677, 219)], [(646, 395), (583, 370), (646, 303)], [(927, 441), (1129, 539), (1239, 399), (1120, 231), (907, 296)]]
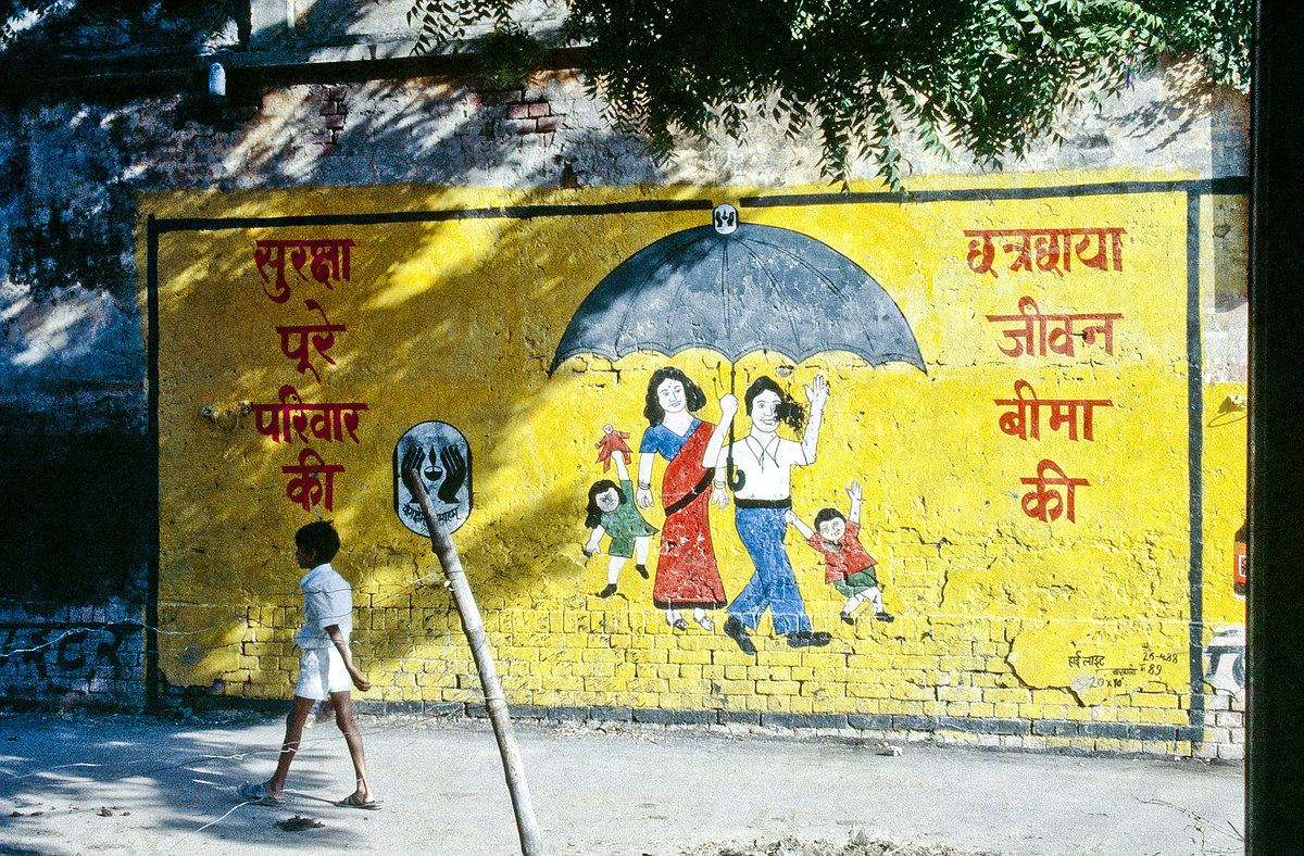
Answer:
[(784, 549), (784, 508), (735, 508), (734, 525), (738, 537), (751, 555), (756, 572), (729, 605), (729, 615), (748, 629), (756, 629), (760, 616), (771, 610), (776, 633), (811, 629), (802, 593), (797, 589), (797, 576)]

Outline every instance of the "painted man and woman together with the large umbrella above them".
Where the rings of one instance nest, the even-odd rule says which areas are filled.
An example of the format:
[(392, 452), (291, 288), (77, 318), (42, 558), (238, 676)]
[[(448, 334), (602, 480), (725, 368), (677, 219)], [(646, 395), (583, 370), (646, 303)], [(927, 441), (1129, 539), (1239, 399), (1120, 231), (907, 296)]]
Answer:
[[(754, 573), (729, 603), (725, 635), (755, 654), (748, 631), (768, 610), (775, 632), (790, 646), (828, 645), (832, 637), (811, 628), (784, 547), (790, 468), (815, 463), (828, 383), (816, 375), (805, 388), (807, 413), (773, 378), (756, 378), (745, 395), (751, 431), (735, 440), (735, 365), (755, 350), (795, 364), (844, 350), (870, 366), (900, 361), (923, 370), (919, 345), (901, 309), (855, 262), (799, 232), (742, 223), (734, 206), (721, 203), (709, 225), (666, 236), (604, 278), (571, 318), (552, 370), (584, 353), (615, 361), (632, 352), (674, 356), (690, 348), (730, 361), (730, 392), (720, 399), (720, 423), (712, 425), (694, 416), (707, 397), (683, 371), (662, 367), (648, 380), (635, 495), (640, 508), (652, 506), (655, 459), (668, 463), (653, 602), (678, 631), (689, 629), (681, 610), (691, 610), (703, 629), (715, 629), (707, 611), (725, 606), (726, 595), (709, 504), (713, 498), (726, 508), (728, 487)], [(805, 431), (801, 442), (778, 436), (781, 423)], [(614, 586), (609, 576), (604, 597)]]

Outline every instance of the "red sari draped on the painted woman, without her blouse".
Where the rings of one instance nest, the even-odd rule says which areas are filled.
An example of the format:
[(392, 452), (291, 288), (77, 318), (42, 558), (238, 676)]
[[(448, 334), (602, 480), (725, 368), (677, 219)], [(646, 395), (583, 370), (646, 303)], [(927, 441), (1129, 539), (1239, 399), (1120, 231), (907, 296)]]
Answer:
[(715, 427), (699, 422), (666, 464), (661, 479), (665, 526), (652, 586), (652, 602), (661, 608), (716, 610), (725, 605), (725, 586), (720, 581), (708, 520), (715, 469), (702, 465)]

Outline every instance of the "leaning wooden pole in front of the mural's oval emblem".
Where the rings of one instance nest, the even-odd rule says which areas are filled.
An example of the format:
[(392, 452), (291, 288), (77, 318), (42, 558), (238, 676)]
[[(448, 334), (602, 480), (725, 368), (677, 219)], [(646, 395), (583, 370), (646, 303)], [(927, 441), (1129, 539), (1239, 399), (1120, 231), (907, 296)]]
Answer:
[(502, 756), (503, 774), (507, 777), (507, 791), (511, 793), (511, 809), (516, 814), (516, 831), (520, 834), (520, 852), (524, 856), (544, 856), (544, 839), (539, 834), (539, 821), (535, 820), (535, 808), (529, 801), (529, 786), (526, 782), (526, 767), (520, 762), (520, 748), (516, 745), (516, 735), (511, 728), (511, 714), (507, 711), (507, 700), (502, 694), (502, 684), (498, 683), (498, 668), (493, 662), (493, 651), (489, 650), (489, 641), (485, 638), (484, 620), (480, 618), (480, 607), (471, 593), (471, 584), (462, 569), (462, 559), (452, 545), (443, 524), (439, 522), (434, 508), (430, 506), (430, 496), (425, 492), (425, 485), (415, 468), (403, 470), (403, 483), (408, 491), (421, 504), (425, 512), (425, 522), (430, 533), (430, 546), (434, 555), (439, 558), (443, 573), (449, 578), (449, 588), (452, 592), (452, 603), (458, 607), (462, 618), (462, 629), (467, 635), (471, 645), (471, 654), (476, 661), (476, 671), (480, 672), (480, 685), (485, 691), (485, 707), (489, 710), (489, 720), (493, 723), (494, 737), (498, 739), (498, 753)]

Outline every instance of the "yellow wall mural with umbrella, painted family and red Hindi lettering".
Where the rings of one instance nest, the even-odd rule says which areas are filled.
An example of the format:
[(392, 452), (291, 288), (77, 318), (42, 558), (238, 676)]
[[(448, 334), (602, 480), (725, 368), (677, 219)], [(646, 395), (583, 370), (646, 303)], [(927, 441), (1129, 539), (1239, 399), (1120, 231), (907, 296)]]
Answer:
[(329, 517), (374, 697), (471, 700), (411, 459), (514, 704), (1189, 739), (1243, 624), (1209, 192), (1026, 178), (147, 197), (160, 672), (289, 692)]

